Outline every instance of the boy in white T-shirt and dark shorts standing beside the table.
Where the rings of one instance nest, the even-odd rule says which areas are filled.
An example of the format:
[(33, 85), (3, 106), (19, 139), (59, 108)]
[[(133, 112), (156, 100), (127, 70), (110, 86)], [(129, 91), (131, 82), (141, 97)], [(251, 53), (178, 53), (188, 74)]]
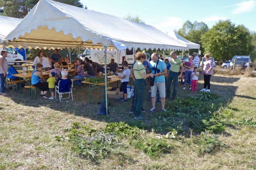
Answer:
[(122, 66), (124, 67), (124, 70), (121, 74), (121, 76), (118, 76), (121, 79), (121, 85), (119, 88), (120, 91), (120, 102), (128, 102), (127, 100), (127, 84), (129, 82), (129, 77), (131, 74), (131, 70), (128, 67), (128, 62), (124, 61), (122, 62)]

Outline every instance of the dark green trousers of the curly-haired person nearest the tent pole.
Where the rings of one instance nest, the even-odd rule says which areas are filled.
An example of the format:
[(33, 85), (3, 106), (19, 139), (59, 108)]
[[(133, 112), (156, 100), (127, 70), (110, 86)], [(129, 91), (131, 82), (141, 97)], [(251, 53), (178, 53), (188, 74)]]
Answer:
[(136, 79), (134, 81), (134, 116), (141, 116), (141, 108), (145, 99), (146, 81), (145, 79)]

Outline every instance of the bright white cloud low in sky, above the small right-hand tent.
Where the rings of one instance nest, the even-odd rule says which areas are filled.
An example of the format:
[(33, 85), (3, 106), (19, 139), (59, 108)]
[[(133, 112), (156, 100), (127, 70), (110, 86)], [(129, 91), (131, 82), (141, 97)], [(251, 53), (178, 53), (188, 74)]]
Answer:
[(166, 17), (162, 23), (157, 24), (156, 28), (166, 33), (169, 30), (178, 30), (183, 23), (184, 21), (179, 17)]

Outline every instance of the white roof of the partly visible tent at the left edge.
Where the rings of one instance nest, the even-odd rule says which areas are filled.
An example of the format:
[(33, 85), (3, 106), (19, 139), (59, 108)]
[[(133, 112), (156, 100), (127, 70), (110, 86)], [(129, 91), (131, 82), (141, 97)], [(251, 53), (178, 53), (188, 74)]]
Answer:
[(21, 19), (5, 17), (0, 15), (0, 23), (3, 23), (3, 26), (0, 27), (0, 48), (2, 48), (2, 40), (6, 37), (19, 23)]

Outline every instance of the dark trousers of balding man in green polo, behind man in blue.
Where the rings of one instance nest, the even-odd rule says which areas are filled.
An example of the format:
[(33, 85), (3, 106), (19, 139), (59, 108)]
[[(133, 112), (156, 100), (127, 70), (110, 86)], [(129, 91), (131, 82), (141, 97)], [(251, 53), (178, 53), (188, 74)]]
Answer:
[(178, 84), (178, 72), (169, 71), (167, 85), (166, 85), (166, 96), (169, 97), (171, 94), (171, 83), (173, 81), (173, 93), (172, 97), (177, 96), (177, 84)]

